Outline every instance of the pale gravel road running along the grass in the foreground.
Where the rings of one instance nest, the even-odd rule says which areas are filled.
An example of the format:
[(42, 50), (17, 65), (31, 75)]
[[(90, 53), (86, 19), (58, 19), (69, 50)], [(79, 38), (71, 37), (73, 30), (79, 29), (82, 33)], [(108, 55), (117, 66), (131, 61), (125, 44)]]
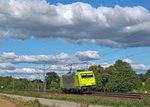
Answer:
[(69, 102), (69, 101), (59, 101), (59, 100), (52, 100), (52, 99), (45, 99), (45, 98), (26, 97), (26, 96), (10, 95), (10, 94), (2, 94), (2, 93), (0, 93), (0, 95), (8, 96), (11, 98), (19, 98), (26, 101), (28, 100), (33, 101), (35, 99), (38, 99), (39, 102), (43, 105), (48, 105), (48, 106), (55, 105), (55, 107), (106, 107), (106, 106), (98, 106), (98, 105), (85, 105), (85, 104)]

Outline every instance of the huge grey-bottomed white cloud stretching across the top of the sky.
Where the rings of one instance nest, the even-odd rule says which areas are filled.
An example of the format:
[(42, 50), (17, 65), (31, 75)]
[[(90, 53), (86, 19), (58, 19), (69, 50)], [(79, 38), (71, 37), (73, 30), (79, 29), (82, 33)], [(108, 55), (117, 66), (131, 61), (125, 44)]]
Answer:
[(150, 12), (142, 6), (92, 7), (46, 0), (1, 0), (0, 39), (61, 38), (109, 47), (150, 46)]

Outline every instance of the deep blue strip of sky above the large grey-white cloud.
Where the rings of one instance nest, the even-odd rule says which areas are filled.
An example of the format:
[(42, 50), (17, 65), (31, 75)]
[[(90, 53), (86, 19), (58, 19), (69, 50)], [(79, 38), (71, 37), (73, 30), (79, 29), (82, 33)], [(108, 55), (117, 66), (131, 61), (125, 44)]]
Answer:
[(98, 7), (98, 6), (109, 6), (109, 7), (114, 7), (115, 5), (120, 5), (120, 6), (143, 6), (147, 9), (149, 9), (149, 0), (47, 0), (50, 3), (63, 3), (63, 4), (70, 4), (74, 2), (84, 2), (84, 3), (89, 3), (93, 7)]

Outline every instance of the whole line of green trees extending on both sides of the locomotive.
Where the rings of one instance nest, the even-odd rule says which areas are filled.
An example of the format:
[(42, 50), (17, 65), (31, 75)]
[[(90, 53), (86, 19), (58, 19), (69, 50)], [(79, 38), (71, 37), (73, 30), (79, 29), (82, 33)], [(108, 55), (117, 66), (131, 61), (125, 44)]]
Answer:
[[(89, 70), (94, 71), (97, 91), (103, 92), (150, 92), (150, 70), (145, 74), (136, 74), (136, 71), (122, 60), (104, 68), (101, 65), (92, 65)], [(56, 72), (48, 72), (45, 81), (35, 79), (15, 79), (11, 76), (0, 77), (0, 89), (30, 89), (43, 90), (46, 82), (47, 90), (58, 90), (60, 88), (60, 77)]]

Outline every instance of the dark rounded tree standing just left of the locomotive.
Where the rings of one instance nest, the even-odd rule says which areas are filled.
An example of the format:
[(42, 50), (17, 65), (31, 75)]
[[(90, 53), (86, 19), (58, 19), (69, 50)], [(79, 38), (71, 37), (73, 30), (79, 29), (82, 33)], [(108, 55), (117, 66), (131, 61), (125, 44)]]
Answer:
[(60, 78), (56, 72), (48, 72), (46, 73), (45, 80), (46, 80), (46, 88), (50, 89), (50, 88), (58, 87)]

